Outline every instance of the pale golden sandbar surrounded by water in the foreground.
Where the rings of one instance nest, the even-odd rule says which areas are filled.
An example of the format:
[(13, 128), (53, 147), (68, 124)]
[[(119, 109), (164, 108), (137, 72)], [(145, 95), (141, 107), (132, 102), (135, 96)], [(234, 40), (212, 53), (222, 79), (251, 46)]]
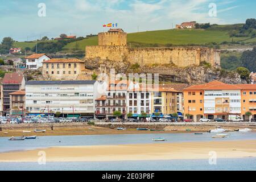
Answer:
[(51, 147), (0, 154), (0, 162), (38, 162), (38, 152), (46, 152), (47, 162), (88, 162), (120, 160), (209, 159), (256, 157), (256, 140), (124, 144), (113, 146)]

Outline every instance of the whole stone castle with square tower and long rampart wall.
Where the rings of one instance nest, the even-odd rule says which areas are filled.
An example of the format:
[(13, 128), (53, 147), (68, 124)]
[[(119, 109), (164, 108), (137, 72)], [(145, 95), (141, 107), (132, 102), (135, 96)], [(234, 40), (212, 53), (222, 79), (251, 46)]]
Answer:
[(220, 50), (208, 47), (127, 47), (127, 33), (110, 29), (98, 34), (98, 46), (86, 46), (85, 60), (99, 57), (102, 60), (129, 61), (131, 64), (174, 64), (189, 67), (207, 62), (220, 65)]

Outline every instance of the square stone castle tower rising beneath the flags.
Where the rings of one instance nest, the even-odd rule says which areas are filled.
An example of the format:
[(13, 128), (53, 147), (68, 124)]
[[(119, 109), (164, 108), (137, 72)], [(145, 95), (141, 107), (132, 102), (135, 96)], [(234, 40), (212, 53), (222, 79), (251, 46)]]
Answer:
[(127, 46), (127, 33), (121, 28), (98, 34), (98, 46)]

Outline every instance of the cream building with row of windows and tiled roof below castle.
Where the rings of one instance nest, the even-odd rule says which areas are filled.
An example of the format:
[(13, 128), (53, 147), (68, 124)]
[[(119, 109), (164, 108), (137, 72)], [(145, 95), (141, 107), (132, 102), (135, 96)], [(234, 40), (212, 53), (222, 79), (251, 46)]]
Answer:
[(93, 71), (79, 59), (51, 59), (43, 62), (43, 77), (51, 80), (92, 80)]

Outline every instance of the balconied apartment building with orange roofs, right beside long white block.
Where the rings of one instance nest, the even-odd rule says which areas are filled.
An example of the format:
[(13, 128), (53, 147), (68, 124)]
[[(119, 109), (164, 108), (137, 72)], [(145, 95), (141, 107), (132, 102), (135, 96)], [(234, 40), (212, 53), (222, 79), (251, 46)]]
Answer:
[(96, 117), (99, 119), (115, 118), (114, 111), (120, 111), (121, 118), (126, 118), (127, 81), (110, 83), (106, 95), (96, 99)]

